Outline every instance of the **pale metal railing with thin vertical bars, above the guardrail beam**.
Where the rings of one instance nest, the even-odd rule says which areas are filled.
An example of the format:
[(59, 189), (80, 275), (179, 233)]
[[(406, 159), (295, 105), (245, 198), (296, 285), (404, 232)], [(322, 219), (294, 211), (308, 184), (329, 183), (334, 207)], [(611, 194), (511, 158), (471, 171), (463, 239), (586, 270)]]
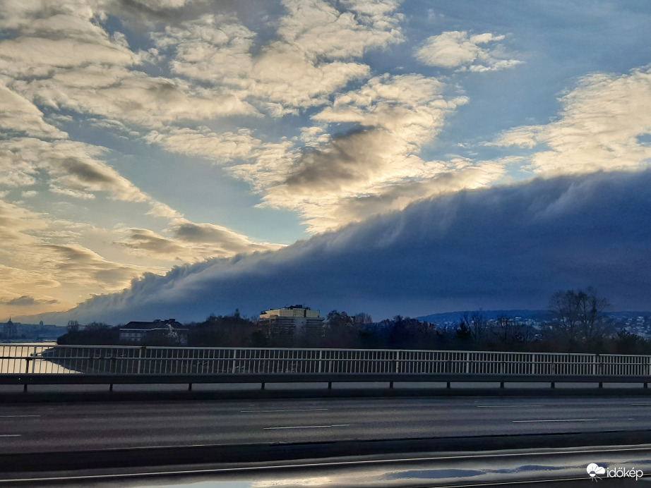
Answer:
[(0, 376), (454, 374), (640, 377), (651, 356), (453, 350), (25, 346), (0, 344)]

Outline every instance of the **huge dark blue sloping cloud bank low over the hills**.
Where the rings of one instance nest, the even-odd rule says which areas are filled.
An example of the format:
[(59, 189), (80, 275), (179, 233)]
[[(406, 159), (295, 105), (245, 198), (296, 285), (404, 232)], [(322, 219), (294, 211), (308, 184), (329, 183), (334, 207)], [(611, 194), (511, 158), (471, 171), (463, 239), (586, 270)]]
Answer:
[(544, 308), (588, 285), (615, 310), (651, 309), (651, 171), (595, 173), (438, 197), (275, 252), (148, 275), (65, 323), (203, 319), (304, 303), (374, 319)]

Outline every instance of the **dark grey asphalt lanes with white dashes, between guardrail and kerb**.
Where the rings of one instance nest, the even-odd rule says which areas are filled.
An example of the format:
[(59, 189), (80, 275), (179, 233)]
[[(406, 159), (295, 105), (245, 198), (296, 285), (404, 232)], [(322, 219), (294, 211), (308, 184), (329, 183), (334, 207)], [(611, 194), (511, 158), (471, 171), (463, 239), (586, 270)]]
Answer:
[(0, 453), (651, 429), (630, 398), (323, 398), (0, 405)]

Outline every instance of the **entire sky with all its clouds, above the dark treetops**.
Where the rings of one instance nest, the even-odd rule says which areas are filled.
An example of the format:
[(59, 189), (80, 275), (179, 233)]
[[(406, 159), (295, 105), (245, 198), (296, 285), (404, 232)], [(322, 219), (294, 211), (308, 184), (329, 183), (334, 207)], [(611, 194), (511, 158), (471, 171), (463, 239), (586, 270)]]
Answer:
[(651, 5), (5, 0), (0, 320), (650, 310)]

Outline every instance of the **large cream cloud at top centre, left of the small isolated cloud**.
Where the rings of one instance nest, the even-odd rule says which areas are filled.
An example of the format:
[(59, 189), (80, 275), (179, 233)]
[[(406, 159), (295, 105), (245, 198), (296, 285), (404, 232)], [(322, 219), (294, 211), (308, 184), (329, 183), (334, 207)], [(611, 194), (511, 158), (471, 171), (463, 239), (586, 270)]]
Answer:
[(369, 66), (369, 49), (402, 41), (398, 2), (345, 1), (338, 11), (322, 0), (287, 0), (277, 37), (253, 52), (256, 34), (234, 17), (205, 15), (153, 35), (157, 49), (173, 56), (173, 73), (218, 85), (275, 116), (328, 102)]

